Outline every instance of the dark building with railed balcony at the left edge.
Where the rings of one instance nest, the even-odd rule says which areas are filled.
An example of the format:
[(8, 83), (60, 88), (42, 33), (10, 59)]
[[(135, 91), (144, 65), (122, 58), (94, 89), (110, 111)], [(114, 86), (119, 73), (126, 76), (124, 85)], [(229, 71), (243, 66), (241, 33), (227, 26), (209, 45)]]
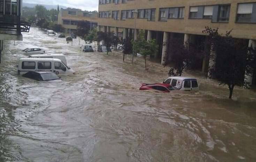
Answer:
[(0, 63), (5, 40), (19, 40), (29, 32), (30, 23), (21, 23), (22, 0), (0, 0)]

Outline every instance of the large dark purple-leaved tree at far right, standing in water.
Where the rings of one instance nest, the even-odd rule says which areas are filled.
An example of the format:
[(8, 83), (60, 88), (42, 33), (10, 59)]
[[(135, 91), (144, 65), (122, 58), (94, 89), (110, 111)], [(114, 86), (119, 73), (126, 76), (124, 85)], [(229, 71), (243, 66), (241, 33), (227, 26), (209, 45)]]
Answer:
[(248, 48), (248, 41), (232, 38), (231, 31), (227, 31), (223, 36), (218, 33), (218, 28), (205, 27), (203, 33), (208, 34), (211, 51), (216, 52), (216, 56), (210, 57), (210, 61), (216, 64), (210, 67), (209, 77), (227, 85), (231, 99), (235, 86), (247, 84), (244, 74), (253, 73), (256, 65), (256, 50)]

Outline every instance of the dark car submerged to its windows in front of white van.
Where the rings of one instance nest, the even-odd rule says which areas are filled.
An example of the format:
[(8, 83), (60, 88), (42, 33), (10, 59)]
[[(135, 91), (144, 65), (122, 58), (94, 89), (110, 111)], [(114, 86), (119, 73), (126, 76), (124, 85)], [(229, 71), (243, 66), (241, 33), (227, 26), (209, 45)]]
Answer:
[(57, 76), (54, 72), (34, 72), (30, 71), (22, 75), (25, 78), (30, 78), (39, 81), (54, 81), (54, 82), (62, 82), (59, 76)]

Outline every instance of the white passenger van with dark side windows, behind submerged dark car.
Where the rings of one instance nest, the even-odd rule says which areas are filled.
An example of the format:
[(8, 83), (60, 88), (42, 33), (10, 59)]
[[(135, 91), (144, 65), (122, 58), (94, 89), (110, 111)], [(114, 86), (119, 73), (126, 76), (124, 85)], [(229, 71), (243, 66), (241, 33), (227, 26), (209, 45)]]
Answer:
[(29, 71), (52, 71), (57, 75), (75, 74), (57, 58), (20, 58), (18, 61), (18, 74)]

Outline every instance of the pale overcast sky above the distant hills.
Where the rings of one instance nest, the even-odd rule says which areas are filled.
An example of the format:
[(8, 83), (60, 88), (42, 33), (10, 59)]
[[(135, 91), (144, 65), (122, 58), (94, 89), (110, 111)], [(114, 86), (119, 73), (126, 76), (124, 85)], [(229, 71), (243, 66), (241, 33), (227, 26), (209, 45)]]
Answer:
[(23, 0), (25, 3), (40, 3), (45, 5), (61, 5), (82, 10), (98, 10), (98, 0)]

